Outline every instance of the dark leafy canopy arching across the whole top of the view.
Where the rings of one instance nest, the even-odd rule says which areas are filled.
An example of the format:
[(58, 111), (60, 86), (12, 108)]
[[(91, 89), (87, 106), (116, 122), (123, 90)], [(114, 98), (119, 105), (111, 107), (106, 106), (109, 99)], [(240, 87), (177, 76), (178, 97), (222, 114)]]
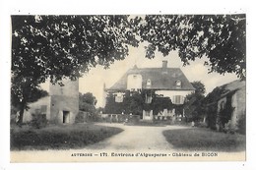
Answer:
[(148, 58), (178, 50), (187, 65), (206, 56), (210, 72), (244, 79), (245, 24), (245, 15), (12, 16), (12, 97), (24, 109), (47, 79), (61, 84), (98, 64), (108, 68), (142, 41)]

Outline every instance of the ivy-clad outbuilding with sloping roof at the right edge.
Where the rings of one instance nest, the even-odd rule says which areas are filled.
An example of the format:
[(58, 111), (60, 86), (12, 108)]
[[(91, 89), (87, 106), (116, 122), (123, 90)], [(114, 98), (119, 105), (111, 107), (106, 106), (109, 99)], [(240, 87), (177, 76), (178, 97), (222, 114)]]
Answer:
[[(244, 121), (246, 115), (246, 86), (245, 81), (233, 81), (229, 84), (218, 86), (215, 89), (219, 89), (219, 96), (216, 101), (208, 104), (209, 113), (216, 110), (215, 115), (208, 115), (209, 122), (215, 122), (212, 124), (212, 128), (216, 128), (218, 131), (237, 131), (239, 129), (239, 121)], [(213, 90), (216, 92), (217, 90)], [(211, 95), (211, 92), (208, 94)], [(217, 108), (214, 108), (214, 107)], [(244, 119), (244, 120), (242, 120)], [(211, 125), (210, 125), (211, 126)]]

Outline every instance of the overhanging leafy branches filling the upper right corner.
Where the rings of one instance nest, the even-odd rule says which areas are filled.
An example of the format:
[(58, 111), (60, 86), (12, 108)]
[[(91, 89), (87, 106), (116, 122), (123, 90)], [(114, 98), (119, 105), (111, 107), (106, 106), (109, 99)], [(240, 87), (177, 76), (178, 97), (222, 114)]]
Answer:
[(147, 56), (156, 50), (164, 56), (178, 50), (184, 65), (206, 56), (210, 72), (235, 73), (245, 79), (246, 21), (236, 15), (158, 15), (146, 16), (137, 29), (148, 41)]

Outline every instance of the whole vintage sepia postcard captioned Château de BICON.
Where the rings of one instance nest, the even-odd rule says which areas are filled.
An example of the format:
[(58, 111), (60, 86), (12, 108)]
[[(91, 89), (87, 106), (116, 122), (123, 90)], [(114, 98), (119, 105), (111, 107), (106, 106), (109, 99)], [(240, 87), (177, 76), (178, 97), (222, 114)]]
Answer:
[(246, 160), (246, 15), (12, 15), (10, 159)]

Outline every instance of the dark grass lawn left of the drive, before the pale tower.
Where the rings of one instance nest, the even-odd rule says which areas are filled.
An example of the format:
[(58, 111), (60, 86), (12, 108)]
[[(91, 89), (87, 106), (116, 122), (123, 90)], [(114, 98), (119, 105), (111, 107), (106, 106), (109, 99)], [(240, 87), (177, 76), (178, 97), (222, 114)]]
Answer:
[(94, 124), (59, 125), (42, 129), (16, 127), (11, 131), (11, 150), (81, 148), (122, 131)]

